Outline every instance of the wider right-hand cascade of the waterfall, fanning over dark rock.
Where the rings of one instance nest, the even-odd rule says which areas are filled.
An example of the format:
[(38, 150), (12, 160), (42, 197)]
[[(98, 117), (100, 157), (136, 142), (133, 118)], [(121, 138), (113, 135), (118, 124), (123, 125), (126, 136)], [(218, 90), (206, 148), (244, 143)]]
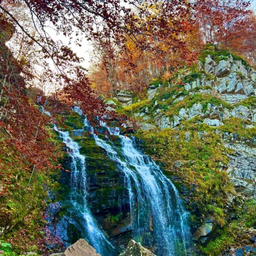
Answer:
[[(84, 125), (89, 125), (86, 119)], [(134, 239), (153, 246), (157, 256), (186, 255), (190, 245), (188, 213), (183, 209), (177, 189), (150, 157), (135, 148), (133, 140), (104, 122), (100, 121), (100, 125), (121, 140), (119, 148), (99, 138), (90, 127), (96, 144), (107, 151), (125, 175)]]

